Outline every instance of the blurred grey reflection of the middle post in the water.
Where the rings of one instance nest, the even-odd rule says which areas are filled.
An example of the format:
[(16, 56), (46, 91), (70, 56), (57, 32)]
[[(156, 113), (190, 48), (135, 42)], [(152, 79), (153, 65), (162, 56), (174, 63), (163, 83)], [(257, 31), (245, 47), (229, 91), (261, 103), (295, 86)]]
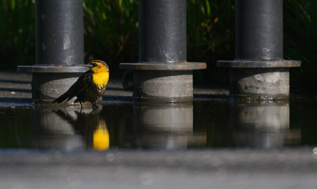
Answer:
[(134, 134), (143, 149), (186, 149), (193, 134), (193, 104), (138, 104), (133, 107)]

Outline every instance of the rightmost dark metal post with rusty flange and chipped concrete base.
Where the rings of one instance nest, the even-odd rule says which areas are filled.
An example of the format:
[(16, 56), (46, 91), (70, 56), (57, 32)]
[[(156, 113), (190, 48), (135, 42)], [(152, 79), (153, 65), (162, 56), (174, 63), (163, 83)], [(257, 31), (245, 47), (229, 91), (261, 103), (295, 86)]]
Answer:
[(230, 68), (230, 94), (255, 100), (289, 95), (289, 68), (283, 59), (283, 1), (236, 0), (236, 59), (217, 61)]

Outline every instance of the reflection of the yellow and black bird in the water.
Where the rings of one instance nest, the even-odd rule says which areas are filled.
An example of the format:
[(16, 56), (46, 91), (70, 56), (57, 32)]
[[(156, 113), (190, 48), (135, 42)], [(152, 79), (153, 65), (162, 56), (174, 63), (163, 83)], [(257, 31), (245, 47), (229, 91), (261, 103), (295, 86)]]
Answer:
[(74, 114), (66, 109), (52, 111), (67, 121), (74, 128), (76, 134), (81, 134), (86, 149), (109, 149), (110, 140), (107, 124), (98, 111), (75, 110)]

